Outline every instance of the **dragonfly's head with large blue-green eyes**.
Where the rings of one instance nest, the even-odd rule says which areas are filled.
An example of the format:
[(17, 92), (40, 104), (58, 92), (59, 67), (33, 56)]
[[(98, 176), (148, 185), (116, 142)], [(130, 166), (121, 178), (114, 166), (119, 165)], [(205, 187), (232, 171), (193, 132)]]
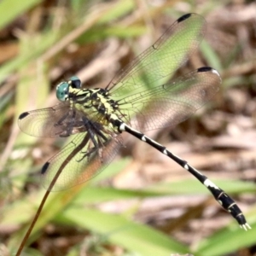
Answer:
[(69, 97), (69, 88), (70, 86), (73, 89), (80, 89), (81, 88), (81, 80), (78, 77), (71, 77), (66, 82), (61, 82), (56, 87), (56, 96), (57, 99), (61, 102), (67, 101)]

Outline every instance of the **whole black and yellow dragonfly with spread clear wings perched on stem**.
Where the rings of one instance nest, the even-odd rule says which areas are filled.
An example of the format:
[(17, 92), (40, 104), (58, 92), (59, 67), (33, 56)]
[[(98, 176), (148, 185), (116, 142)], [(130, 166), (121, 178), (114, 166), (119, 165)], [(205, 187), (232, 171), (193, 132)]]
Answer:
[(241, 209), (223, 189), (143, 133), (174, 127), (218, 92), (221, 78), (212, 67), (200, 67), (173, 78), (201, 44), (206, 29), (207, 22), (201, 15), (183, 15), (104, 89), (82, 89), (80, 79), (72, 77), (56, 86), (59, 104), (21, 113), (20, 130), (31, 136), (73, 136), (67, 146), (44, 164), (44, 188), (59, 191), (95, 177), (123, 147), (121, 134), (128, 132), (190, 172), (236, 218), (241, 228), (250, 229)]

